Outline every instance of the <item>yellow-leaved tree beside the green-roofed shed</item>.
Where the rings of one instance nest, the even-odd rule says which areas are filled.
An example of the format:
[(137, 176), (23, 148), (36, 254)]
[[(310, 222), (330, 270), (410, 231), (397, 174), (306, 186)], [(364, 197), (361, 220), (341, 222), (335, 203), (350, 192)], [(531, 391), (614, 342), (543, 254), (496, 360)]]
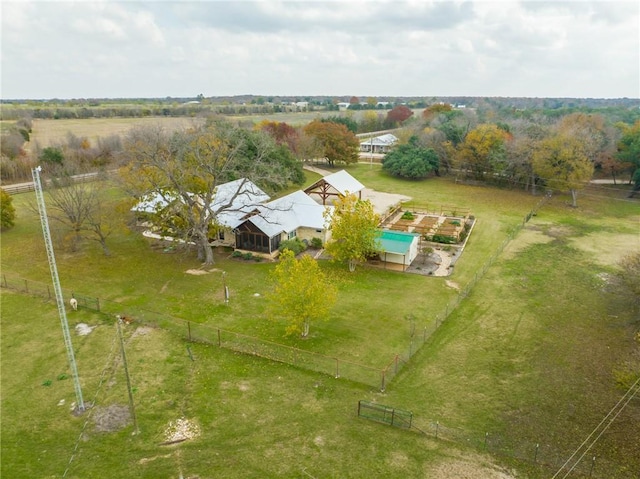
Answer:
[(336, 261), (346, 261), (349, 271), (355, 271), (357, 263), (379, 250), (380, 218), (369, 200), (359, 200), (354, 194), (341, 196), (334, 203), (333, 212), (327, 210), (325, 219), (331, 229), (327, 252)]

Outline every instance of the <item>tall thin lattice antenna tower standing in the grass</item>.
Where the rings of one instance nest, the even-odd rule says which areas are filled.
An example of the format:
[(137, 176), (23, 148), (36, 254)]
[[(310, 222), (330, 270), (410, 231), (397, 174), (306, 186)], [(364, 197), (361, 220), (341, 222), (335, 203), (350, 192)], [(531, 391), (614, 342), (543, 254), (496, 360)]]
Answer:
[(56, 257), (53, 254), (53, 243), (51, 242), (51, 233), (49, 232), (49, 220), (47, 219), (47, 209), (44, 203), (44, 194), (42, 192), (42, 183), (40, 182), (40, 170), (38, 166), (31, 170), (33, 175), (33, 185), (38, 201), (38, 211), (40, 213), (40, 223), (42, 224), (42, 234), (44, 236), (44, 244), (47, 248), (47, 257), (49, 258), (49, 269), (51, 270), (51, 279), (53, 281), (53, 289), (56, 294), (56, 303), (58, 305), (58, 315), (62, 324), (62, 335), (64, 336), (64, 345), (67, 348), (67, 359), (71, 367), (73, 376), (73, 386), (76, 391), (77, 410), (84, 411), (84, 400), (82, 399), (82, 389), (80, 388), (80, 378), (78, 377), (78, 368), (76, 366), (76, 358), (73, 354), (73, 344), (71, 343), (71, 335), (69, 334), (69, 323), (67, 322), (67, 311), (64, 307), (64, 298), (62, 297), (62, 288), (58, 279), (58, 267), (56, 266)]

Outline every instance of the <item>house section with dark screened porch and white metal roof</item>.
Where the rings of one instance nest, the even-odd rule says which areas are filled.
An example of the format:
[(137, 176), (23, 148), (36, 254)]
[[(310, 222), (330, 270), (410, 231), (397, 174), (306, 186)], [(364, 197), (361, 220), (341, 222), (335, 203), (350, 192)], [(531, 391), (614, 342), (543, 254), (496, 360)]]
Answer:
[(236, 248), (274, 256), (282, 241), (296, 237), (307, 242), (320, 238), (324, 244), (329, 239), (324, 214), (332, 208), (303, 191), (260, 205), (235, 229)]

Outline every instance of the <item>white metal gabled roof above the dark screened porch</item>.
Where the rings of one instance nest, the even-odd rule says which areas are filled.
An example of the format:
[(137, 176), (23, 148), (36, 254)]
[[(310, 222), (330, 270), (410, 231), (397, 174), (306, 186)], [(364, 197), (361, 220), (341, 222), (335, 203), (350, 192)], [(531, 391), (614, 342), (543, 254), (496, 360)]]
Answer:
[[(324, 229), (327, 207), (316, 203), (303, 191), (295, 191), (257, 208), (250, 221), (270, 238), (289, 233), (300, 227)], [(329, 207), (329, 209), (331, 209)]]

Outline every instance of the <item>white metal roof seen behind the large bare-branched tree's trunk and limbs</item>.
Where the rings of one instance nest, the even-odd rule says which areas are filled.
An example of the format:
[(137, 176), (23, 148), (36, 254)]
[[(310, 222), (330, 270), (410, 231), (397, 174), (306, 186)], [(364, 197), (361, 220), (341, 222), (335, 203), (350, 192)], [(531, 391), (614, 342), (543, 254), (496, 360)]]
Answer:
[[(157, 213), (166, 208), (169, 202), (178, 198), (179, 196), (173, 192), (167, 192), (164, 195), (159, 192), (151, 193), (143, 197), (137, 205), (131, 208), (131, 211)], [(240, 178), (218, 185), (211, 203), (211, 210), (219, 224), (235, 228), (243, 222), (248, 213), (268, 200), (269, 195), (258, 188), (255, 183), (246, 178)]]

